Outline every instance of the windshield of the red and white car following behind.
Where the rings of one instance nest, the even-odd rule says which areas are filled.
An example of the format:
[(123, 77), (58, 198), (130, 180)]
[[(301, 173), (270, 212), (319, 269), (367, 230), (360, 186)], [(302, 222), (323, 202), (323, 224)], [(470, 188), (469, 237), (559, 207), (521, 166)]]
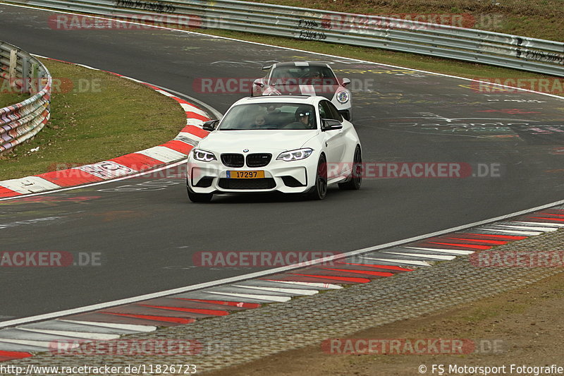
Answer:
[(338, 85), (327, 66), (280, 66), (272, 70), (269, 85)]

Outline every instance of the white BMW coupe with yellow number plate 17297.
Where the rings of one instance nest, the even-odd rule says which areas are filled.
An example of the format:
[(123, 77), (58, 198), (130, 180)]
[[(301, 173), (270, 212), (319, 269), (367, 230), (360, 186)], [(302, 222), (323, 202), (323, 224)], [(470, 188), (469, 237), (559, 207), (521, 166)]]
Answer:
[(192, 202), (216, 193), (279, 191), (325, 198), (327, 186), (359, 189), (360, 140), (324, 97), (276, 95), (238, 100), (188, 156)]

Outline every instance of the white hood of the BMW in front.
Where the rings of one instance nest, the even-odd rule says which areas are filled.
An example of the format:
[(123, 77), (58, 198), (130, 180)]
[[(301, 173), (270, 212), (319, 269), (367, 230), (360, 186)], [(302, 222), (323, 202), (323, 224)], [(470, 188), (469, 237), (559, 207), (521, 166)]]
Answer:
[(318, 133), (317, 129), (214, 131), (200, 141), (197, 147), (210, 152), (242, 153), (245, 149), (250, 153), (285, 152), (299, 149)]

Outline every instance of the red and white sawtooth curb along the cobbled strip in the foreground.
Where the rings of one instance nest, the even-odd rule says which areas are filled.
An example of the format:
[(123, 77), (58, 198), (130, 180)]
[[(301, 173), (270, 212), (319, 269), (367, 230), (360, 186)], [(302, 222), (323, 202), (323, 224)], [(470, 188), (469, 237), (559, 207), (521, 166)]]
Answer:
[[(82, 341), (111, 341), (126, 334), (152, 332), (158, 327), (186, 325), (206, 317), (229, 315), (239, 310), (259, 308), (266, 303), (283, 303), (297, 296), (309, 296), (322, 290), (341, 289), (347, 284), (364, 284), (391, 277), (434, 262), (453, 260), (496, 245), (520, 241), (530, 236), (564, 228), (564, 206), (503, 218), (421, 237), (419, 240), (333, 261), (330, 266), (313, 265), (263, 275), (231, 284), (209, 286), (168, 296), (155, 296), (102, 309), (59, 315), (46, 321), (14, 324), (0, 330), (0, 361), (27, 358), (32, 353), (55, 351), (63, 341), (80, 346)], [(445, 231), (446, 232), (446, 231)], [(9, 323), (2, 323), (6, 327)], [(76, 341), (80, 339), (80, 341)]]

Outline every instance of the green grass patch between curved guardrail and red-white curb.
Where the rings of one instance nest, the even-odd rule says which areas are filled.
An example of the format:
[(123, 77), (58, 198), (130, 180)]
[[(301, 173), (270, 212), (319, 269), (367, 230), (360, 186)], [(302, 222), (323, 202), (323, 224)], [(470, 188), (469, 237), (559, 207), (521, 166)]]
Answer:
[(145, 85), (42, 61), (54, 78), (51, 121), (33, 140), (1, 157), (0, 181), (136, 152), (171, 140), (185, 125), (178, 103)]

